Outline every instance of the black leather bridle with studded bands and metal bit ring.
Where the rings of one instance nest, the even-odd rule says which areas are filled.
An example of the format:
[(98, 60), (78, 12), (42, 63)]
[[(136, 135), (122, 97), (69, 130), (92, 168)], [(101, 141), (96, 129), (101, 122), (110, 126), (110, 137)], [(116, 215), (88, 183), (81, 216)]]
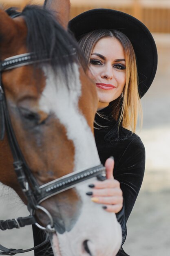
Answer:
[[(46, 232), (48, 233), (53, 233), (55, 232), (55, 229), (53, 227), (53, 218), (49, 211), (47, 211), (44, 207), (40, 206), (40, 203), (47, 198), (52, 197), (53, 195), (74, 188), (77, 184), (84, 182), (92, 177), (97, 177), (98, 180), (106, 179), (106, 170), (102, 164), (93, 168), (86, 169), (84, 171), (69, 173), (68, 175), (64, 175), (56, 180), (43, 184), (42, 186), (39, 186), (37, 180), (32, 175), (29, 166), (26, 164), (22, 151), (20, 150), (17, 139), (15, 137), (15, 133), (13, 131), (13, 127), (11, 125), (11, 119), (9, 117), (9, 111), (7, 108), (7, 101), (4, 94), (1, 75), (2, 72), (6, 70), (21, 67), (24, 65), (30, 65), (41, 61), (48, 61), (48, 59), (40, 60), (38, 58), (38, 55), (35, 53), (20, 54), (6, 58), (4, 61), (0, 61), (0, 140), (4, 139), (4, 134), (6, 130), (9, 145), (13, 155), (14, 170), (17, 175), (18, 183), (20, 184), (22, 192), (24, 193), (28, 202), (28, 210), (31, 213), (30, 216), (24, 218), (17, 218), (5, 221), (0, 220), (1, 230), (12, 229), (14, 227), (20, 228), (24, 227), (25, 225), (35, 224), (40, 229), (46, 230)], [(38, 209), (43, 211), (49, 217), (49, 224), (46, 227), (42, 227), (35, 220), (34, 214), (35, 211)], [(0, 250), (2, 250), (2, 252), (0, 252), (0, 255), (14, 255), (16, 253), (22, 253), (24, 251), (28, 252), (42, 246), (47, 242), (48, 240), (44, 241), (39, 246), (33, 247), (28, 250), (7, 249), (0, 245)]]

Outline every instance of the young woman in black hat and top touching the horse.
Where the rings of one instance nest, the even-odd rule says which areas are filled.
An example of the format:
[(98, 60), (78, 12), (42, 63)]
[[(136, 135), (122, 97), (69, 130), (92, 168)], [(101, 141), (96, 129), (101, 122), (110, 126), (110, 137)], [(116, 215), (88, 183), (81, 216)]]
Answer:
[[(113, 155), (115, 167), (105, 182), (90, 184), (88, 195), (106, 211), (117, 213), (126, 239), (126, 222), (144, 176), (145, 149), (134, 133), (139, 99), (150, 87), (157, 69), (157, 49), (150, 31), (136, 18), (110, 9), (94, 9), (73, 18), (69, 29), (88, 63), (86, 74), (96, 83), (99, 97), (95, 141), (101, 162)], [(81, 61), (81, 60), (80, 60)], [(141, 117), (141, 116), (140, 116)], [(114, 182), (111, 182), (113, 180)], [(118, 208), (116, 180), (123, 193)], [(118, 188), (118, 186), (117, 186)], [(117, 256), (128, 255), (121, 248)]]

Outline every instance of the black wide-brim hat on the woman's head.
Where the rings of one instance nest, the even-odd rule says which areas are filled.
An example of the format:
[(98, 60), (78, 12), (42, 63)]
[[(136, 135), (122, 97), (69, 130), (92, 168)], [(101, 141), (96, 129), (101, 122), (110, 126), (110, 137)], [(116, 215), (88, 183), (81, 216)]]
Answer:
[(121, 11), (93, 9), (70, 20), (68, 29), (77, 40), (95, 29), (116, 29), (124, 33), (135, 51), (139, 96), (144, 96), (156, 74), (157, 47), (152, 34), (141, 21)]

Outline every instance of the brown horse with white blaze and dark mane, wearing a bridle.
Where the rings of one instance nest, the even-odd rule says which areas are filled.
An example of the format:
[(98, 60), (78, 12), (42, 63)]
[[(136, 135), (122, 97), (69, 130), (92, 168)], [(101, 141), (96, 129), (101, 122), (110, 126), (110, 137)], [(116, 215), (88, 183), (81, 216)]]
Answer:
[(35, 5), (12, 17), (0, 10), (0, 182), (27, 205), (54, 256), (113, 256), (120, 225), (86, 195), (105, 178), (93, 136), (97, 92), (66, 31), (69, 1), (60, 2), (60, 22)]

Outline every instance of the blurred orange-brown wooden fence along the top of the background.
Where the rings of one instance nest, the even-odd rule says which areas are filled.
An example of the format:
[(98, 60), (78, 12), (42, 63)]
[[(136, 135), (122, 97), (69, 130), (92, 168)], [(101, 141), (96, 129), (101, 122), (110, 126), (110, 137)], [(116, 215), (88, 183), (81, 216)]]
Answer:
[[(22, 9), (30, 2), (43, 4), (44, 0), (0, 0), (0, 5)], [(94, 8), (123, 11), (141, 20), (151, 32), (170, 33), (170, 0), (71, 0), (71, 18)]]

